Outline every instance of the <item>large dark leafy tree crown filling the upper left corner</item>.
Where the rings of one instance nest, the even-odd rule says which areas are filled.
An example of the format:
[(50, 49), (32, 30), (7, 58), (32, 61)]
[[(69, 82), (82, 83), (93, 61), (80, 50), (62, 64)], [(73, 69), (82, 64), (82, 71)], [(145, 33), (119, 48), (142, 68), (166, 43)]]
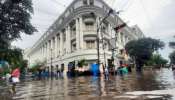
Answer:
[(37, 31), (30, 22), (32, 13), (32, 0), (0, 1), (0, 48), (21, 38), (21, 33), (31, 35)]

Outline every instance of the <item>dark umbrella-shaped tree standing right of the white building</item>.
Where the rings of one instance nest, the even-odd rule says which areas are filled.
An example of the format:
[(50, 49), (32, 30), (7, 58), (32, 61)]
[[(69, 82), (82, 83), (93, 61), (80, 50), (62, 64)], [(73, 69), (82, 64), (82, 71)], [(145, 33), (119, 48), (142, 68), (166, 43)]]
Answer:
[(130, 41), (125, 49), (136, 63), (136, 70), (142, 71), (143, 65), (152, 57), (152, 54), (163, 49), (164, 43), (158, 39), (142, 38)]

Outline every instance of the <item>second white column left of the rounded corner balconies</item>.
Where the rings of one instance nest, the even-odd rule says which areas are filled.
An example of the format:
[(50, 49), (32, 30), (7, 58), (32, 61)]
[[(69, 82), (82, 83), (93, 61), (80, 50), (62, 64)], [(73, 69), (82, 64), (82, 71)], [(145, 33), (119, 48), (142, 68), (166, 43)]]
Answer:
[(77, 51), (80, 49), (80, 31), (79, 31), (79, 21), (76, 19), (76, 49)]

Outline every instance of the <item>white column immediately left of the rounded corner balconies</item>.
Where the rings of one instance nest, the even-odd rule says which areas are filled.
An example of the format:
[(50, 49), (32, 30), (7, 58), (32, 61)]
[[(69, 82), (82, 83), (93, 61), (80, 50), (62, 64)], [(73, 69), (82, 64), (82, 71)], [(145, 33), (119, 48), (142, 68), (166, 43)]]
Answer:
[(83, 44), (84, 44), (84, 39), (83, 39), (84, 25), (83, 25), (82, 16), (79, 19), (80, 19), (80, 49), (83, 49)]

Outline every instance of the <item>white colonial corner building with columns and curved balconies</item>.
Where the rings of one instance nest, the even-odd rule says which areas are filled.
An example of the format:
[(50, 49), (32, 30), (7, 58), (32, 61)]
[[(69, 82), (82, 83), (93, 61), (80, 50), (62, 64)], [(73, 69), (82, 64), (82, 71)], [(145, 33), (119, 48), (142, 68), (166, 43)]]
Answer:
[[(27, 50), (29, 65), (36, 61), (46, 62), (46, 66), (54, 69), (68, 69), (70, 62), (85, 59), (88, 65), (97, 61), (97, 28), (111, 8), (103, 0), (74, 0), (65, 12), (50, 26), (36, 44)], [(144, 37), (137, 27), (124, 27), (116, 33), (114, 27), (124, 23), (114, 12), (104, 20), (99, 28), (100, 61), (104, 62), (104, 52), (108, 64), (111, 59), (111, 44), (115, 38), (115, 55), (133, 39)], [(116, 56), (117, 57), (117, 56)], [(52, 65), (52, 67), (50, 67)]]

